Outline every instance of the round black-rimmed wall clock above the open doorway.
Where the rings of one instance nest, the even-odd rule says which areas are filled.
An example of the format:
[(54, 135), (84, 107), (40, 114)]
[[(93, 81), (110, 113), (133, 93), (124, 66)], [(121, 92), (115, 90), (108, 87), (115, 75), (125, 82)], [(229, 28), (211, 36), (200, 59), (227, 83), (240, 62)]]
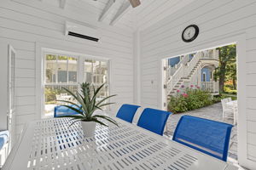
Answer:
[(182, 38), (183, 42), (192, 42), (199, 34), (199, 27), (195, 25), (187, 26), (183, 30)]

